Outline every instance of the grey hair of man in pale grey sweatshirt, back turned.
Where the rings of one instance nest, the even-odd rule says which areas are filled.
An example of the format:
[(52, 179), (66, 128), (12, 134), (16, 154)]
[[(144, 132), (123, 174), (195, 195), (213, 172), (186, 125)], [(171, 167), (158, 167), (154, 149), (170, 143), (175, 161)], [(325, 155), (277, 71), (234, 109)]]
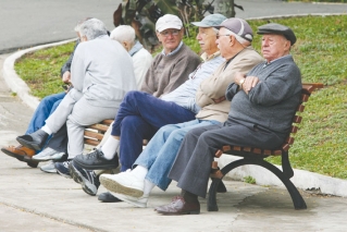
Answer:
[(90, 19), (83, 22), (78, 28), (80, 37), (86, 36), (88, 40), (99, 36), (108, 35), (104, 24), (97, 19)]

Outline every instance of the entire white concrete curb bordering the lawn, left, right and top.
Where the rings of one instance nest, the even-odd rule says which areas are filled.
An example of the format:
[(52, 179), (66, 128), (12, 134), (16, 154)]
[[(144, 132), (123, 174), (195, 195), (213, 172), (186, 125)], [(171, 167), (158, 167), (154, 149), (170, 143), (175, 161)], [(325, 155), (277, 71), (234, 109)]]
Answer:
[[(285, 17), (294, 17), (294, 16), (307, 16), (307, 15), (329, 16), (329, 15), (345, 15), (345, 14), (347, 13), (287, 14), (287, 15), (267, 16), (267, 17), (249, 17), (246, 20), (271, 20), (271, 19), (285, 19)], [(8, 86), (11, 88), (12, 91), (16, 93), (17, 96), (26, 105), (28, 105), (33, 109), (36, 109), (36, 107), (39, 103), (39, 100), (38, 98), (29, 95), (28, 86), (15, 73), (14, 71), (15, 60), (21, 58), (23, 54), (27, 52), (32, 52), (32, 51), (48, 48), (48, 47), (63, 45), (74, 40), (75, 39), (69, 39), (69, 40), (64, 40), (60, 42), (37, 46), (34, 48), (21, 50), (11, 54), (9, 58), (5, 59), (3, 64), (3, 76)], [(239, 159), (239, 157), (223, 155), (219, 159), (219, 164), (221, 168), (223, 168), (225, 164), (237, 159)], [(281, 166), (276, 166), (276, 167), (282, 170)], [(345, 180), (335, 179), (335, 178), (331, 178), (331, 176), (326, 176), (326, 175), (322, 175), (322, 174), (318, 174), (318, 173), (313, 173), (309, 171), (297, 170), (297, 169), (294, 169), (294, 173), (295, 175), (290, 180), (298, 188), (315, 190), (317, 192), (322, 194), (347, 197), (347, 181)], [(233, 170), (232, 172), (227, 173), (226, 176), (232, 178), (233, 180), (238, 180), (238, 181), (244, 181), (244, 178), (246, 176), (252, 176), (256, 179), (256, 182), (259, 185), (284, 186), (283, 183), (276, 178), (276, 175), (274, 175), (267, 169), (263, 169), (262, 167), (257, 167), (257, 166), (239, 167)]]

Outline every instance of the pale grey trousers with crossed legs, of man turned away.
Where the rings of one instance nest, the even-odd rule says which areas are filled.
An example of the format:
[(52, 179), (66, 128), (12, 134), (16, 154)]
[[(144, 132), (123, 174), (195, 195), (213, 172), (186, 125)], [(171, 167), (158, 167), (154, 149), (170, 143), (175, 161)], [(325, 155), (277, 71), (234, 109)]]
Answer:
[(49, 147), (62, 150), (66, 144), (65, 131), (62, 126), (66, 123), (69, 159), (83, 154), (85, 127), (104, 119), (113, 119), (119, 110), (119, 103), (110, 107), (99, 107), (90, 103), (82, 93), (71, 89), (61, 101), (57, 110), (46, 120), (46, 124), (58, 133), (52, 137)]

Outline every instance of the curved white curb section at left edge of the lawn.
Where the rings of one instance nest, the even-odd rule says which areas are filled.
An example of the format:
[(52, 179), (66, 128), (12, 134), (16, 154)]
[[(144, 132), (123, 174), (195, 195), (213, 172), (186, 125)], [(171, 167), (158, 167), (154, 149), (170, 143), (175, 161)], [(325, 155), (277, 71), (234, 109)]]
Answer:
[(26, 83), (16, 74), (14, 71), (14, 62), (24, 56), (25, 53), (33, 52), (39, 49), (44, 48), (49, 48), (49, 47), (54, 47), (59, 45), (64, 45), (71, 41), (74, 41), (76, 39), (69, 39), (64, 41), (59, 41), (59, 42), (52, 42), (48, 45), (41, 45), (33, 48), (28, 48), (25, 50), (21, 50), (17, 52), (14, 52), (10, 57), (8, 57), (4, 62), (3, 62), (3, 78), (7, 83), (7, 85), (10, 87), (10, 89), (15, 93), (24, 103), (33, 108), (34, 110), (37, 108), (39, 103), (39, 99), (37, 97), (32, 96), (29, 87), (26, 85)]

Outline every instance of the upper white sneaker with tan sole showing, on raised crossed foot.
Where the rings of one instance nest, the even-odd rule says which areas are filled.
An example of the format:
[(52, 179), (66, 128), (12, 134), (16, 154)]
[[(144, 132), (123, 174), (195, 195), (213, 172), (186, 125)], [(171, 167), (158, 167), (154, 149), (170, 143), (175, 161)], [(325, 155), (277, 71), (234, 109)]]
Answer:
[(101, 174), (100, 182), (107, 190), (113, 193), (132, 197), (140, 197), (144, 195), (145, 180), (138, 179), (132, 172)]

